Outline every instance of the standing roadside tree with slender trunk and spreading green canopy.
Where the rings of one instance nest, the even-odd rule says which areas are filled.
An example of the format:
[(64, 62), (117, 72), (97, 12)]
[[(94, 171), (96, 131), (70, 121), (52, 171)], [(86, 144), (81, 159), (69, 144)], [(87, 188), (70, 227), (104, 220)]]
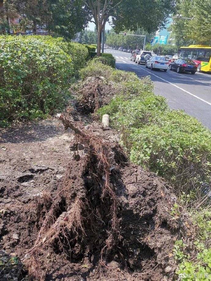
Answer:
[[(70, 1), (75, 2), (75, 0)], [(137, 27), (144, 27), (146, 31), (152, 32), (165, 26), (175, 5), (174, 0), (84, 0), (83, 2), (88, 17), (94, 18), (92, 22), (97, 27), (98, 56), (100, 56), (101, 32), (110, 16), (117, 32), (123, 28), (135, 31)]]

